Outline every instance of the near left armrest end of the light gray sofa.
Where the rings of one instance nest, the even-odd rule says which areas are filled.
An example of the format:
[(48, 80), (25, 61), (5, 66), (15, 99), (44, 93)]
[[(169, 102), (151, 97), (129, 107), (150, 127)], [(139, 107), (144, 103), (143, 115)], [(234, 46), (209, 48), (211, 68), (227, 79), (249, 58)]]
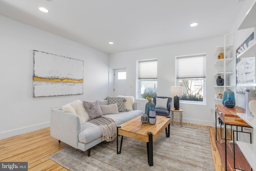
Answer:
[(60, 109), (51, 110), (50, 135), (78, 148), (78, 134), (82, 131), (80, 117)]

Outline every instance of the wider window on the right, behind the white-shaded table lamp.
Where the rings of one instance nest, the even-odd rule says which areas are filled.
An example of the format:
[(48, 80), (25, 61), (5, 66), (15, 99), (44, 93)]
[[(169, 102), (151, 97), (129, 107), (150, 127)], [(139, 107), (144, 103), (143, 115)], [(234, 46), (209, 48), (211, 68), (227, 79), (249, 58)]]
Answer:
[(176, 57), (176, 79), (183, 87), (181, 102), (206, 104), (206, 54)]

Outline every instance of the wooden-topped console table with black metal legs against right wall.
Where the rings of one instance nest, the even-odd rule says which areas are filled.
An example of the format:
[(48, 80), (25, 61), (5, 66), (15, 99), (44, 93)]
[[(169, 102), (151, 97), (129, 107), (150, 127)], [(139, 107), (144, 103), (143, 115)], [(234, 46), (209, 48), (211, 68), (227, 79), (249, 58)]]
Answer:
[[(238, 115), (236, 115), (236, 113), (244, 113), (244, 109), (242, 109), (241, 107), (238, 107), (238, 106), (235, 106), (233, 108), (228, 108), (228, 107), (225, 107), (224, 105), (215, 105), (216, 143), (217, 143), (218, 149), (220, 151), (220, 154), (221, 154), (222, 151), (220, 150), (220, 148), (221, 148), (220, 144), (221, 143), (217, 142), (217, 114), (220, 117), (220, 119), (222, 120), (222, 122), (224, 123), (225, 159), (222, 159), (222, 162), (224, 163), (224, 167), (225, 167), (226, 171), (227, 171), (227, 167), (228, 167), (228, 165), (227, 165), (227, 132), (226, 132), (226, 125), (231, 126), (231, 139), (232, 139), (232, 126), (251, 127), (250, 125), (248, 125), (248, 123), (246, 123), (243, 119), (241, 119)], [(237, 129), (236, 129), (236, 132), (238, 132)], [(239, 132), (244, 132), (244, 131), (242, 130), (242, 131), (239, 131)], [(234, 151), (237, 151), (237, 150), (235, 150), (235, 144), (234, 143), (233, 143), (233, 145), (234, 145), (233, 146)], [(234, 151), (232, 152), (233, 154), (234, 154)], [(231, 155), (232, 155), (232, 153), (231, 153)], [(240, 150), (239, 150), (239, 153), (241, 153)], [(230, 155), (230, 153), (229, 153), (229, 155)], [(244, 156), (242, 155), (242, 157), (244, 157)], [(230, 158), (230, 156), (229, 156), (229, 158)], [(237, 159), (237, 160), (240, 160), (240, 159)], [(247, 164), (248, 163), (243, 163), (242, 164), (242, 166), (245, 167), (245, 169), (242, 169), (242, 170), (248, 170), (248, 167), (246, 167)], [(234, 157), (234, 168), (235, 168), (235, 157)], [(250, 168), (250, 165), (249, 165), (249, 168)], [(232, 168), (230, 168), (230, 169), (232, 169)], [(250, 170), (251, 170), (251, 168), (250, 168)]]

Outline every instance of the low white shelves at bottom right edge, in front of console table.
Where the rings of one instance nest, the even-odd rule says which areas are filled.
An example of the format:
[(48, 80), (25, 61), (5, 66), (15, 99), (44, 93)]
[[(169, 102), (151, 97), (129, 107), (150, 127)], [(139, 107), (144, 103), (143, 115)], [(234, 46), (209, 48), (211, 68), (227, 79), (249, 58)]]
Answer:
[(252, 167), (252, 169), (256, 170), (256, 118), (250, 114), (245, 115), (244, 113), (236, 113), (241, 119), (243, 119), (246, 123), (248, 123), (251, 127), (253, 127), (253, 144), (244, 143), (240, 141), (236, 141), (238, 147), (244, 154), (244, 157)]

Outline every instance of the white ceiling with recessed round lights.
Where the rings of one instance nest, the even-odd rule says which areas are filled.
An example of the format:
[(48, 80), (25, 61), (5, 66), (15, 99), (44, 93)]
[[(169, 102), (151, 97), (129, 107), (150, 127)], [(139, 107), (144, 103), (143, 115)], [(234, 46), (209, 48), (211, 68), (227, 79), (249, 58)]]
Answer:
[[(243, 5), (237, 0), (0, 0), (0, 15), (113, 54), (229, 34)], [(199, 24), (190, 27), (192, 22)]]

